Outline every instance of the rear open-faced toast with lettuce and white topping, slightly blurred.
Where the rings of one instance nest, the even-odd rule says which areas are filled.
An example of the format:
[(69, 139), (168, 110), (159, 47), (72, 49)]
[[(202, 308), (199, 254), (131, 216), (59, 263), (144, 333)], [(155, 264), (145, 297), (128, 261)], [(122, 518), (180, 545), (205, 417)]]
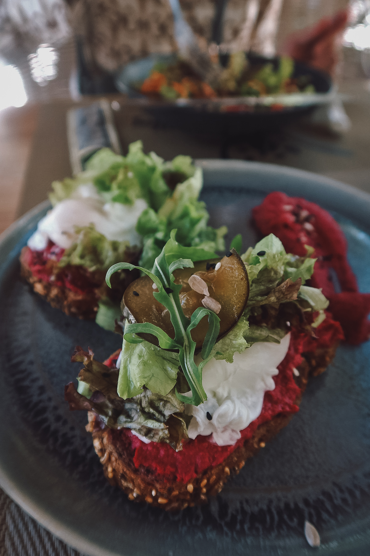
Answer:
[(53, 182), (53, 208), (22, 250), (22, 275), (53, 307), (109, 327), (135, 278), (121, 270), (109, 289), (111, 265), (151, 268), (174, 228), (182, 244), (212, 254), (224, 249), (226, 229), (207, 226), (209, 214), (198, 200), (202, 173), (190, 157), (165, 162), (146, 155), (137, 141), (127, 156), (104, 148), (86, 167), (74, 179)]

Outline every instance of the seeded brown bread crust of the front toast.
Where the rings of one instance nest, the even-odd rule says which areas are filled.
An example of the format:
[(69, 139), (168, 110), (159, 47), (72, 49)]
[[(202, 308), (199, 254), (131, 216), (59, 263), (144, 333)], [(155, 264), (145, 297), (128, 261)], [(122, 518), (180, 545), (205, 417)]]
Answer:
[[(304, 359), (298, 367), (295, 381), (300, 394), (295, 400), (301, 401), (308, 376), (322, 373), (333, 359), (338, 344), (320, 353), (303, 354)], [(119, 431), (109, 428), (99, 429), (100, 424), (94, 413), (89, 412), (87, 430), (92, 432), (96, 453), (103, 465), (104, 475), (113, 486), (124, 490), (130, 500), (146, 502), (165, 510), (181, 510), (187, 506), (204, 504), (209, 496), (216, 495), (231, 475), (239, 473), (245, 460), (251, 458), (285, 427), (292, 415), (278, 414), (270, 421), (261, 424), (255, 434), (237, 447), (219, 465), (208, 468), (189, 483), (167, 482), (145, 469), (136, 469), (130, 447), (120, 441)]]

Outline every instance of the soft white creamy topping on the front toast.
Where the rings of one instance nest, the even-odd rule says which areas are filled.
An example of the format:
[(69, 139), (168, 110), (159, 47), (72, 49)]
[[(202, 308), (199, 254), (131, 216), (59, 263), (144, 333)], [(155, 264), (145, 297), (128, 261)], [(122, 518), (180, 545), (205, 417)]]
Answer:
[(285, 358), (289, 342), (290, 334), (280, 344), (256, 342), (234, 354), (233, 363), (211, 359), (202, 373), (207, 400), (199, 406), (185, 406), (187, 415), (193, 416), (189, 438), (211, 434), (211, 441), (219, 446), (235, 444), (240, 431), (261, 414), (265, 392), (275, 388), (272, 377), (278, 374), (277, 366)]

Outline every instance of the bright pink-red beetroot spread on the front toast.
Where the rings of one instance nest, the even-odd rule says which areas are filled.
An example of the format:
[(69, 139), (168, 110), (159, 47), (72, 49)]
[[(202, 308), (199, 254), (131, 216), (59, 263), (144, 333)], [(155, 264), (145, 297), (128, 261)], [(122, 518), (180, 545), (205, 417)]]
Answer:
[[(187, 441), (182, 451), (176, 452), (165, 443), (143, 443), (131, 434), (129, 429), (112, 430), (115, 443), (123, 445), (123, 450), (129, 450), (133, 455), (133, 462), (137, 469), (144, 466), (156, 475), (168, 481), (178, 480), (183, 483), (196, 478), (202, 471), (214, 467), (224, 461), (237, 446), (251, 438), (257, 426), (270, 421), (278, 414), (289, 415), (298, 411), (296, 405), (301, 390), (295, 383), (293, 368), (302, 362), (302, 353), (317, 347), (330, 347), (342, 339), (342, 331), (337, 322), (328, 315), (317, 329), (318, 339), (312, 338), (306, 332), (292, 330), (291, 341), (285, 359), (278, 366), (279, 373), (273, 378), (275, 389), (266, 391), (263, 399), (262, 412), (255, 421), (241, 431), (241, 438), (232, 446), (218, 446), (212, 444), (207, 436), (197, 436), (195, 440)], [(113, 363), (117, 354), (105, 362)]]

